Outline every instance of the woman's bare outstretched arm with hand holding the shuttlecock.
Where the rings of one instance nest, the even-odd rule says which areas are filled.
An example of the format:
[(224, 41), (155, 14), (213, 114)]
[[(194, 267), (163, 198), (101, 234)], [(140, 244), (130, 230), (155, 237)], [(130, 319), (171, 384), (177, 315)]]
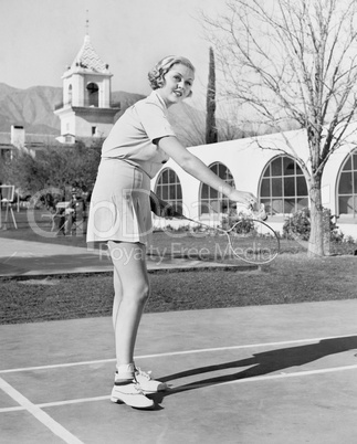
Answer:
[(245, 205), (256, 203), (251, 192), (239, 191), (211, 171), (198, 157), (188, 151), (176, 137), (168, 136), (158, 140), (158, 146), (172, 158), (186, 172), (216, 190), (222, 192), (230, 200)]

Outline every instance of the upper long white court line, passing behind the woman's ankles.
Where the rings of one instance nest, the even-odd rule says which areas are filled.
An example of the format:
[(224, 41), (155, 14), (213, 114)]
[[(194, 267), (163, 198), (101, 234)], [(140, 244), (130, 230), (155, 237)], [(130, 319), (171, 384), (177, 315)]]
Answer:
[[(258, 347), (275, 347), (275, 346), (286, 346), (286, 345), (294, 345), (294, 343), (318, 342), (318, 341), (328, 340), (328, 339), (353, 338), (355, 336), (357, 336), (357, 332), (355, 335), (328, 336), (328, 337), (323, 337), (323, 338), (296, 339), (296, 340), (279, 341), (279, 342), (261, 342), (261, 343), (250, 343), (250, 345), (244, 345), (244, 346), (202, 348), (202, 349), (183, 350), (183, 351), (168, 351), (168, 352), (165, 352), (165, 353), (153, 353), (153, 355), (136, 356), (135, 359), (149, 359), (149, 358), (161, 358), (161, 357), (168, 357), (168, 356), (207, 353), (207, 352), (211, 352), (211, 351), (227, 351), (227, 350), (239, 350), (239, 349), (258, 348)], [(63, 367), (92, 366), (92, 364), (106, 363), (106, 362), (115, 362), (115, 359), (114, 358), (113, 359), (97, 359), (97, 360), (93, 360), (93, 361), (54, 363), (54, 364), (49, 364), (49, 366), (23, 367), (23, 368), (18, 368), (18, 369), (7, 369), (7, 370), (0, 370), (0, 374), (1, 373), (15, 373), (15, 372), (20, 372), (20, 371), (56, 369), (56, 368), (63, 368)]]

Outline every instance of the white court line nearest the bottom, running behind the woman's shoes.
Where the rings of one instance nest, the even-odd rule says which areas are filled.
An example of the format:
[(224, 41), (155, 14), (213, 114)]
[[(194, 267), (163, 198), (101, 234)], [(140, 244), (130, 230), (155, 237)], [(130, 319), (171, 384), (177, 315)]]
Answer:
[[(275, 379), (285, 379), (285, 378), (301, 378), (301, 377), (309, 377), (309, 376), (315, 376), (315, 374), (324, 374), (324, 373), (336, 373), (338, 371), (346, 371), (346, 370), (356, 370), (357, 364), (355, 366), (344, 366), (344, 367), (332, 367), (329, 369), (321, 369), (321, 370), (305, 370), (305, 371), (295, 371), (292, 373), (277, 373), (277, 374), (270, 374), (270, 376), (263, 376), (263, 377), (251, 377), (251, 378), (244, 378), (244, 379), (237, 379), (233, 381), (227, 381), (227, 382), (217, 382), (213, 384), (207, 384), (204, 385), (204, 381), (202, 383), (197, 383), (197, 384), (183, 384), (183, 385), (178, 385), (175, 390), (174, 388), (174, 393), (176, 392), (185, 392), (187, 388), (189, 387), (189, 390), (192, 389), (210, 389), (210, 388), (216, 388), (216, 387), (221, 387), (221, 385), (229, 385), (229, 384), (245, 384), (249, 382), (260, 382), (260, 381), (270, 381), (270, 380), (275, 380)], [(1, 381), (1, 378), (0, 378)], [(1, 387), (0, 387), (1, 388)], [(74, 400), (67, 400), (67, 401), (56, 401), (56, 402), (46, 402), (42, 404), (32, 404), (38, 409), (44, 409), (44, 408), (51, 408), (51, 406), (60, 406), (60, 405), (69, 405), (69, 404), (77, 404), (77, 403), (83, 403), (83, 402), (96, 402), (96, 401), (105, 401), (108, 400), (111, 397), (95, 397), (95, 398), (80, 398), (80, 399), (74, 399)], [(4, 408), (0, 409), (0, 413), (7, 413), (7, 412), (15, 412), (15, 411), (21, 411), (21, 410), (28, 410), (25, 406), (13, 406), (13, 408)]]

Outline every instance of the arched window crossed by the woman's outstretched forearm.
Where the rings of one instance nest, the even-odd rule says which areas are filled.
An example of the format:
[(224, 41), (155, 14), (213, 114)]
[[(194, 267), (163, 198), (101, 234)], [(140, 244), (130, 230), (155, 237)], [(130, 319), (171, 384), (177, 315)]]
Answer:
[[(225, 165), (216, 162), (210, 166), (210, 169), (223, 179), (228, 184), (235, 188), (233, 176)], [(230, 201), (224, 194), (214, 190), (206, 183), (200, 187), (200, 215), (210, 213), (227, 213), (230, 207)]]

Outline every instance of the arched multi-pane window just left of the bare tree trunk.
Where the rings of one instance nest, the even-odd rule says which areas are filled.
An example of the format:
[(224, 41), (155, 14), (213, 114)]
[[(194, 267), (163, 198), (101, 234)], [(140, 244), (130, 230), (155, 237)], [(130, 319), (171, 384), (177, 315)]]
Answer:
[(298, 163), (287, 156), (267, 163), (260, 184), (260, 202), (267, 214), (288, 214), (308, 207), (305, 176)]

